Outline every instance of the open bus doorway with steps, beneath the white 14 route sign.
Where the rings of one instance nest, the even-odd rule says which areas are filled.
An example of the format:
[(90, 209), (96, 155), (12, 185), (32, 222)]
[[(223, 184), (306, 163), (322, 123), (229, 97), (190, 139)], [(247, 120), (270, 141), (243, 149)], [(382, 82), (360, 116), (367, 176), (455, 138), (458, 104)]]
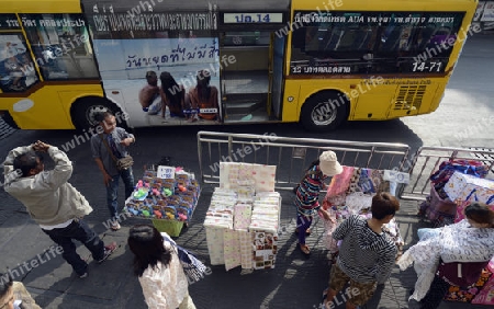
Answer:
[[(249, 4), (255, 5), (255, 2), (266, 4), (263, 0)], [(223, 8), (226, 11), (220, 12), (221, 96), (225, 123), (281, 118), (285, 35), (280, 34), (280, 28), (285, 26), (289, 1), (278, 4), (270, 8), (272, 11), (238, 12), (238, 3), (228, 2)]]

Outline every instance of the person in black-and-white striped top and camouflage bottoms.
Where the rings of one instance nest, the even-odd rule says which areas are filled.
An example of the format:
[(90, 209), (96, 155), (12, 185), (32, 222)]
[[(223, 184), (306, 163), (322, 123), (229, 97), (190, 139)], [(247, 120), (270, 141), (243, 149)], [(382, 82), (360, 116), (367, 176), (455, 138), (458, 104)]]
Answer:
[(389, 224), (398, 209), (396, 197), (385, 192), (378, 193), (372, 197), (372, 218), (351, 215), (333, 232), (334, 239), (341, 240), (341, 247), (336, 263), (332, 265), (326, 307), (332, 307), (330, 301), (348, 282), (350, 295), (347, 294), (346, 308), (363, 306), (374, 294), (377, 285), (384, 284), (390, 277), (397, 248), (382, 226)]

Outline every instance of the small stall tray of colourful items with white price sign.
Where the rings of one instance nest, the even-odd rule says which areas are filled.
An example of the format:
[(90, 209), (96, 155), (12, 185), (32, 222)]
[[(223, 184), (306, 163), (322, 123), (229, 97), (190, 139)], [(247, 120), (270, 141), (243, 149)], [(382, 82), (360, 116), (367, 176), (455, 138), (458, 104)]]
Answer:
[(150, 219), (159, 231), (178, 237), (192, 218), (200, 192), (193, 173), (159, 165), (144, 172), (125, 202), (124, 211), (131, 217)]

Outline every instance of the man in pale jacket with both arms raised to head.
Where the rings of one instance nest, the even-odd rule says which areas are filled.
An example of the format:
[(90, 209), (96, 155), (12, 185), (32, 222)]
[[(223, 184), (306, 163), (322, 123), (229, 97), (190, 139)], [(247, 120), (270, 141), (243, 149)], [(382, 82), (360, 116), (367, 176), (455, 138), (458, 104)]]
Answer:
[[(47, 152), (55, 169), (44, 170), (43, 157)], [(82, 217), (92, 211), (88, 201), (67, 181), (72, 163), (57, 147), (36, 141), (9, 152), (3, 162), (4, 190), (26, 207), (30, 216), (64, 250), (61, 256), (81, 278), (88, 276), (88, 264), (76, 252), (72, 240), (82, 242), (93, 259), (101, 263), (116, 249), (116, 243), (104, 247), (103, 241), (89, 228)]]

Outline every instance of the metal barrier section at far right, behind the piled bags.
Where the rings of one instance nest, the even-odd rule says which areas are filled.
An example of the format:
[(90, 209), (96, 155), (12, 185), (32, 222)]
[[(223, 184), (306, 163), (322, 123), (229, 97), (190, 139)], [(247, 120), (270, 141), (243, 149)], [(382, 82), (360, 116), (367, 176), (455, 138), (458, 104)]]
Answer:
[(454, 159), (478, 160), (489, 165), (486, 178), (494, 179), (494, 150), (476, 148), (420, 147), (409, 169), (411, 181), (401, 198), (424, 201), (430, 193), (430, 175), (441, 162)]

